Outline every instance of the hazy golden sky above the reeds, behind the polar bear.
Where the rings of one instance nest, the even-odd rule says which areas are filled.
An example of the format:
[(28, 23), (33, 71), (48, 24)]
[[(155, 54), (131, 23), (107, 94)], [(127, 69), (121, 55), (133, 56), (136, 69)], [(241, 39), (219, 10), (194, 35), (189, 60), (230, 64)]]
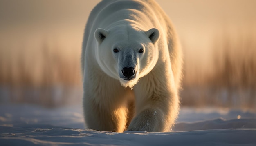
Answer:
[[(47, 37), (58, 38), (59, 42), (70, 40), (65, 42), (81, 44), (88, 15), (98, 2), (99, 0), (0, 0), (1, 40), (16, 42), (20, 38)], [(200, 39), (209, 38), (220, 27), (240, 27), (245, 24), (247, 27), (256, 26), (255, 0), (157, 2), (173, 21), (181, 40), (189, 43), (189, 46), (197, 44)], [(199, 40), (191, 40), (195, 38), (193, 36)], [(29, 42), (22, 39), (20, 41), (25, 41), (25, 44)]]

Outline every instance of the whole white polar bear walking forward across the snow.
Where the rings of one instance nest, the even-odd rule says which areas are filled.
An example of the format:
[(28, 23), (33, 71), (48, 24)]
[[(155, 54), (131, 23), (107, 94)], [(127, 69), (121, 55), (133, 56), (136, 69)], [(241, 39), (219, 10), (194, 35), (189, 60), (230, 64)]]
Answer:
[(81, 54), (83, 111), (100, 131), (170, 131), (179, 113), (182, 51), (153, 0), (103, 0)]

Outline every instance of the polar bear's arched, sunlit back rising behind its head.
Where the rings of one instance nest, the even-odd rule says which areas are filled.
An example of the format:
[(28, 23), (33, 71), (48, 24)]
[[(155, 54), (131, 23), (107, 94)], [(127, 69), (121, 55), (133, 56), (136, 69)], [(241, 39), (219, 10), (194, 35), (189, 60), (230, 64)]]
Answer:
[[(126, 4), (124, 5), (124, 3)], [(130, 5), (128, 3), (130, 3)], [(97, 28), (106, 29), (106, 26), (111, 25), (110, 23), (113, 21), (108, 19), (108, 17), (112, 15), (112, 13), (115, 13), (115, 11), (119, 11), (115, 14), (115, 21), (118, 21), (118, 14), (122, 15), (122, 19), (131, 15), (129, 13), (122, 14), (120, 11), (121, 9), (125, 9), (126, 11), (128, 11), (128, 9), (138, 10), (138, 13), (135, 13), (138, 15), (138, 19), (135, 21), (139, 21), (138, 24), (141, 24), (141, 27), (145, 29), (144, 31), (155, 27), (159, 29), (160, 33), (162, 33), (162, 41), (159, 43), (167, 43), (160, 46), (168, 46), (174, 80), (177, 87), (179, 87), (180, 77), (182, 75), (182, 52), (179, 48), (180, 45), (171, 20), (154, 0), (102, 0), (99, 2), (99, 4), (97, 4), (97, 6), (91, 11), (85, 27), (81, 56), (82, 71), (84, 70), (85, 50), (92, 48), (91, 43), (94, 42), (94, 37), (92, 37), (94, 36), (94, 31)], [(140, 17), (143, 17), (143, 19)], [(104, 21), (101, 22), (103, 19)]]

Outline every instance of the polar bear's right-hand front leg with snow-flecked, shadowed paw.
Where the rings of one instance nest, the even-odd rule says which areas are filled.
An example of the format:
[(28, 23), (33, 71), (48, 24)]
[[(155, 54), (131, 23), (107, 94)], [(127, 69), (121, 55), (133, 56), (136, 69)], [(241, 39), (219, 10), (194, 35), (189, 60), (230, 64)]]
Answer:
[(135, 118), (127, 130), (170, 131), (179, 113), (179, 98), (175, 88), (170, 86), (171, 82), (167, 79), (158, 84), (144, 84), (144, 80), (147, 79), (140, 80), (134, 88)]

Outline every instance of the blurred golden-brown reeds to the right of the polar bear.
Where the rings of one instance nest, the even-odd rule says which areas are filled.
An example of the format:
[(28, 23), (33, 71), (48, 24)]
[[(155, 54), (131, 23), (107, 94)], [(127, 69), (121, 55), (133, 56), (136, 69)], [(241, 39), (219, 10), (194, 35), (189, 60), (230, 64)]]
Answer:
[(252, 32), (216, 36), (211, 63), (194, 68), (192, 83), (185, 69), (182, 105), (256, 110), (255, 40)]

